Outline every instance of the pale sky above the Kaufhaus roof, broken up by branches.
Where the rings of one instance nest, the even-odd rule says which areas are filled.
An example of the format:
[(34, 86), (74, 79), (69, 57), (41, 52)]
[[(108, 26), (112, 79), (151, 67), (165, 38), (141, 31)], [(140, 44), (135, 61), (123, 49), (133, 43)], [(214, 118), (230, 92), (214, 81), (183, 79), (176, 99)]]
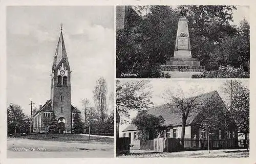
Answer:
[[(247, 79), (240, 79), (242, 85), (249, 88), (249, 80)], [(120, 82), (125, 82), (129, 80), (120, 80)], [(166, 100), (163, 98), (163, 93), (166, 89), (170, 88), (172, 90), (177, 90), (182, 88), (184, 92), (183, 98), (189, 98), (193, 96), (201, 95), (202, 93), (211, 92), (217, 90), (220, 97), (224, 101), (226, 105), (230, 102), (230, 98), (223, 92), (223, 85), (225, 79), (152, 79), (148, 83), (151, 85), (152, 90), (152, 99), (153, 106), (158, 106), (166, 103)], [(194, 89), (197, 88), (197, 89)], [(192, 95), (189, 89), (196, 90)], [(131, 119), (137, 115), (136, 111), (131, 111)], [(131, 122), (131, 119), (129, 121)], [(121, 131), (126, 128), (129, 124), (120, 125), (120, 136)]]

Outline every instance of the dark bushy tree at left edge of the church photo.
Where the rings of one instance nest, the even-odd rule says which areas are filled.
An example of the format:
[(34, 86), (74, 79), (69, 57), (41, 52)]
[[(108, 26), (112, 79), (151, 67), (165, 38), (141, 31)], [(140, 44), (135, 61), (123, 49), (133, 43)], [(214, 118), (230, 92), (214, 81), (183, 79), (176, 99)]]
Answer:
[(24, 123), (25, 114), (19, 105), (11, 103), (7, 109), (8, 134), (14, 133), (16, 136), (19, 126)]

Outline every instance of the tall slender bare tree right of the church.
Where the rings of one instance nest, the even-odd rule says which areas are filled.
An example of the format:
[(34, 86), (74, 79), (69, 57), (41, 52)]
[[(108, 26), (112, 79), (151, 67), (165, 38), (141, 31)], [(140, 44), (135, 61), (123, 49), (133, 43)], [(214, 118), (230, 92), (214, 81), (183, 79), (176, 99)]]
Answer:
[(101, 123), (104, 123), (106, 117), (106, 96), (108, 94), (108, 89), (106, 88), (106, 80), (103, 77), (100, 77), (97, 80), (97, 84), (93, 91), (95, 106), (99, 114)]

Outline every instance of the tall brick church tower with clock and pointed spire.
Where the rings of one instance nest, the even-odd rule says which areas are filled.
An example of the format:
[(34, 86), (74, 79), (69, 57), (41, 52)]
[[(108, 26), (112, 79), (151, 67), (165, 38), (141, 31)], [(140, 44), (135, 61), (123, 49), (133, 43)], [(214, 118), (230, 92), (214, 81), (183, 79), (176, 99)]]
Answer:
[[(70, 66), (65, 43), (62, 35), (62, 26), (52, 65), (51, 105), (56, 114), (61, 131), (71, 128), (71, 82)], [(67, 129), (66, 129), (67, 130)]]

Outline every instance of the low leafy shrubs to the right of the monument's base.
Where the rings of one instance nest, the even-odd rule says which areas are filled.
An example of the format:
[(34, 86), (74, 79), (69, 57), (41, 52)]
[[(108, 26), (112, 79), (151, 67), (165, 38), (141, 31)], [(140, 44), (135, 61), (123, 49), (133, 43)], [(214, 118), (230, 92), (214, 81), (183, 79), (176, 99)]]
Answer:
[(249, 78), (248, 72), (233, 66), (220, 66), (216, 71), (205, 71), (203, 74), (195, 74), (192, 78)]

